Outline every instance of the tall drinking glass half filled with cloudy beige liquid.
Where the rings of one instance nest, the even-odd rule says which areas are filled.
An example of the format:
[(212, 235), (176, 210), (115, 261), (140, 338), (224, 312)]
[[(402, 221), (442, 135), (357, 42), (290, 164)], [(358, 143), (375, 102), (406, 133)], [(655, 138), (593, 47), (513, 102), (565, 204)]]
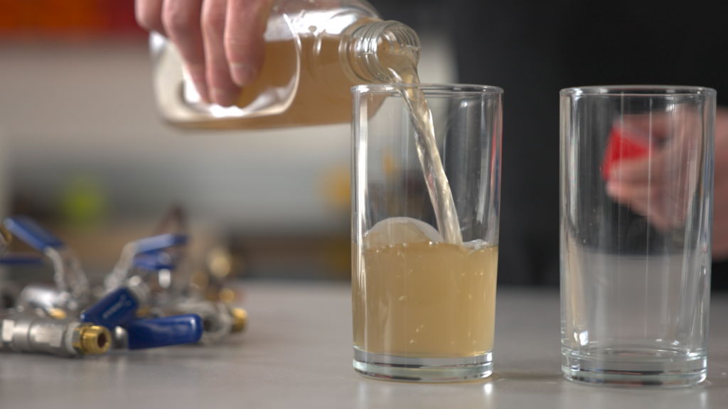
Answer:
[[(432, 144), (427, 121), (415, 132), (418, 116), (408, 111), (419, 91), (432, 112)], [(502, 90), (376, 84), (352, 92), (354, 368), (406, 381), (485, 378), (492, 371)]]

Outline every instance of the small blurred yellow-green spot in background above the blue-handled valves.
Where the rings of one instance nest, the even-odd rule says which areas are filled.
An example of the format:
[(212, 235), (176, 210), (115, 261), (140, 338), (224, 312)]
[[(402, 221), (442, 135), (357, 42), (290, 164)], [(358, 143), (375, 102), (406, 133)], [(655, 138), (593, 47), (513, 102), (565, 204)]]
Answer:
[(106, 183), (94, 175), (72, 175), (61, 194), (61, 218), (77, 227), (94, 228), (102, 225), (109, 215), (107, 191)]

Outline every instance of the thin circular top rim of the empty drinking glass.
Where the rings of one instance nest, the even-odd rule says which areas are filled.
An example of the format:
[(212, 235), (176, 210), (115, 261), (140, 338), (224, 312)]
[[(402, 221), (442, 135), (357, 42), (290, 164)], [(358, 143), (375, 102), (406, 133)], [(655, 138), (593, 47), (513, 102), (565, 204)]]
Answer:
[(559, 92), (559, 95), (676, 97), (685, 95), (716, 95), (716, 90), (708, 87), (692, 87), (686, 85), (592, 85), (588, 87), (564, 88)]

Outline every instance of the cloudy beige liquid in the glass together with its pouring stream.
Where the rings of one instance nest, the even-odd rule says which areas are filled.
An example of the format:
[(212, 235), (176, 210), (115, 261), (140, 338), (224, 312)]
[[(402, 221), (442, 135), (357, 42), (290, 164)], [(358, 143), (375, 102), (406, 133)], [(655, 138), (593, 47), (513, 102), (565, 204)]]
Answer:
[[(392, 82), (419, 84), (414, 50), (396, 49), (397, 41), (379, 46), (379, 61)], [(480, 240), (463, 245), (424, 93), (411, 88), (400, 94), (415, 128), (442, 242), (395, 241), (360, 250), (352, 284), (354, 344), (365, 352), (400, 357), (483, 355), (493, 349), (498, 247)], [(404, 238), (401, 229), (392, 224), (376, 234)]]

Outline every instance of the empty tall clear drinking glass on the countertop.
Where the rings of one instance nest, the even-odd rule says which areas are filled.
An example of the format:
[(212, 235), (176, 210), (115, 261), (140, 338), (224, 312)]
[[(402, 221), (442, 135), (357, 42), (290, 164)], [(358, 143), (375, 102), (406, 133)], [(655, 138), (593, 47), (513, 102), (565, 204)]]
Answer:
[(716, 92), (561, 91), (564, 376), (705, 379)]

